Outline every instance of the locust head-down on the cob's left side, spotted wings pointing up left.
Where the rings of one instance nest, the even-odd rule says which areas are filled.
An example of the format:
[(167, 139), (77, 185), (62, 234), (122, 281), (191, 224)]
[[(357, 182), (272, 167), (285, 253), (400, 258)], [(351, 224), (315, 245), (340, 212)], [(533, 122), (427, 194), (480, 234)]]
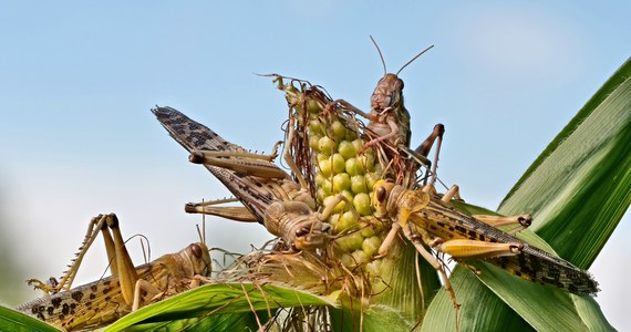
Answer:
[[(190, 153), (189, 160), (204, 164), (245, 206), (245, 209), (224, 209), (189, 204), (186, 211), (261, 222), (293, 249), (324, 246), (329, 225), (322, 220), (328, 218), (332, 207), (316, 212), (316, 201), (306, 185), (296, 183), (271, 163), (276, 152), (269, 156), (249, 153), (170, 107), (153, 112), (170, 136)], [(298, 170), (294, 175), (301, 176)], [(304, 179), (300, 183), (306, 184)]]

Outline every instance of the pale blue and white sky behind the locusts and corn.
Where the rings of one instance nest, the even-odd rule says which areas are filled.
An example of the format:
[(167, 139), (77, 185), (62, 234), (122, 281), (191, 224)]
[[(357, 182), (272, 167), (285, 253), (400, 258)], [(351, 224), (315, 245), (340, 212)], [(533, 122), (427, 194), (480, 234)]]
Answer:
[[(22, 280), (59, 277), (100, 212), (116, 212), (126, 237), (146, 236), (154, 258), (197, 241), (200, 217), (184, 204), (228, 191), (188, 164), (149, 112), (156, 104), (269, 152), (287, 105), (255, 73), (309, 80), (368, 110), (383, 74), (369, 35), (393, 72), (434, 44), (401, 75), (413, 144), (445, 124), (442, 179), (496, 208), (631, 54), (628, 1), (416, 2), (1, 2), (0, 259), (21, 269), (0, 301), (39, 295)], [(246, 252), (271, 238), (258, 225), (208, 221), (210, 247)], [(629, 221), (590, 269), (621, 330), (631, 329)], [(75, 284), (105, 269), (95, 243)]]

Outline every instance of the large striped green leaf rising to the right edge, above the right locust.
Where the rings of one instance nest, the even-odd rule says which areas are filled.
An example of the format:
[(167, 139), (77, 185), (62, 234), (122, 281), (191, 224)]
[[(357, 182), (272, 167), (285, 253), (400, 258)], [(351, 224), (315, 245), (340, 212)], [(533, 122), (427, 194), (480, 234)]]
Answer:
[[(526, 170), (499, 207), (577, 267), (593, 262), (631, 204), (628, 60)], [(575, 246), (572, 243), (580, 243)]]

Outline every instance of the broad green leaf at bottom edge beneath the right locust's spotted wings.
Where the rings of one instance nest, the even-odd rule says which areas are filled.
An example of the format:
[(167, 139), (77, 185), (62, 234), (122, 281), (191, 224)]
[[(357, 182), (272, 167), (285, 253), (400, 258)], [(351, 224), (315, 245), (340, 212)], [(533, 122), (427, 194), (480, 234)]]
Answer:
[[(451, 278), (463, 308), (461, 331), (613, 330), (591, 298), (523, 280), (489, 263), (472, 266), (482, 274), (476, 277), (457, 266)], [(453, 304), (447, 293), (441, 290), (434, 301), (422, 331), (455, 330)], [(582, 310), (578, 310), (577, 303)], [(447, 310), (451, 310), (451, 315), (445, 313)]]

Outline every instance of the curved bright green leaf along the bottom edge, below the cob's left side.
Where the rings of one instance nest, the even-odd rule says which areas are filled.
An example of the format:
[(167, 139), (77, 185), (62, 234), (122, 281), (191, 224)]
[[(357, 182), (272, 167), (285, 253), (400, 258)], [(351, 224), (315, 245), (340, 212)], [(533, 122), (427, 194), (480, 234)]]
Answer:
[[(260, 287), (251, 283), (206, 284), (142, 308), (118, 320), (105, 331), (118, 331), (138, 323), (151, 323), (142, 326), (143, 329), (180, 330), (184, 326), (187, 329), (213, 326), (213, 331), (232, 331), (235, 323), (246, 322), (256, 330), (258, 328), (256, 319), (251, 325), (252, 320), (249, 315), (252, 311), (257, 312), (262, 324), (275, 314), (276, 309), (302, 305), (334, 305), (334, 302), (309, 292), (272, 284)], [(224, 328), (227, 330), (223, 330)]]

